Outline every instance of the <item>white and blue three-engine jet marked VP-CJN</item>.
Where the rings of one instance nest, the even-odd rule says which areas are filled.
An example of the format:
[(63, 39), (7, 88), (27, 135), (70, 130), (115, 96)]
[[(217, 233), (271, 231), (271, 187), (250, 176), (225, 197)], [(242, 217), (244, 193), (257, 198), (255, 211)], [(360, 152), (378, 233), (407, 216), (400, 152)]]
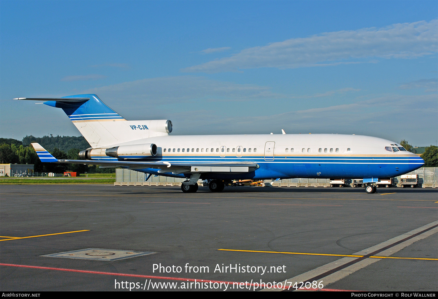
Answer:
[(198, 179), (220, 192), (231, 180), (295, 177), (362, 179), (367, 193), (379, 178), (396, 177), (424, 164), (403, 146), (381, 138), (338, 134), (170, 136), (169, 120), (128, 121), (95, 94), (45, 101), (61, 108), (91, 145), (86, 160), (58, 160), (32, 143), (42, 162), (124, 167), (146, 174), (181, 177), (183, 192), (196, 192)]

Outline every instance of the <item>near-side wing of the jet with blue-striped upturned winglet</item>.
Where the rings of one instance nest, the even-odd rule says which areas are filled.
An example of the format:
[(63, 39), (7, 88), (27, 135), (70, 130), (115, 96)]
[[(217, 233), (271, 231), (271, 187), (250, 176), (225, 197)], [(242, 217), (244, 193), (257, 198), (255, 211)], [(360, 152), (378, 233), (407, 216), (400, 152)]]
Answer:
[(100, 165), (101, 167), (127, 167), (129, 169), (159, 169), (159, 173), (201, 173), (201, 172), (250, 172), (259, 166), (253, 162), (242, 163), (170, 163), (148, 161), (99, 161), (99, 160), (64, 160), (52, 156), (39, 143), (31, 143), (41, 162)]

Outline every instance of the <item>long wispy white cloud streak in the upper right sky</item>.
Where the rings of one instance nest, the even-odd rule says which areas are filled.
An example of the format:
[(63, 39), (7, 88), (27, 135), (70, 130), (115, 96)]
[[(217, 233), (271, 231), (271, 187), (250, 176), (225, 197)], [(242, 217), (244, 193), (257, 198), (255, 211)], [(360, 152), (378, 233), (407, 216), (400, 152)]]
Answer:
[(368, 60), (376, 57), (415, 58), (437, 52), (437, 25), (437, 20), (419, 21), (291, 38), (244, 49), (231, 57), (187, 67), (182, 71), (215, 73), (259, 67), (287, 69), (375, 62)]

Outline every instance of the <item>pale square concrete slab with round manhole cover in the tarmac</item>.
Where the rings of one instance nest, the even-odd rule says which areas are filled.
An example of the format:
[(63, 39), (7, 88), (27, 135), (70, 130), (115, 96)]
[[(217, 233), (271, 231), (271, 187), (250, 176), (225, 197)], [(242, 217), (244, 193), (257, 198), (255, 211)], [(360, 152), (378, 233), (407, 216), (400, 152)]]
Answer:
[(41, 255), (42, 257), (66, 257), (81, 260), (116, 261), (130, 257), (154, 254), (152, 251), (130, 251), (119, 249), (85, 248), (73, 251), (65, 251), (56, 254)]

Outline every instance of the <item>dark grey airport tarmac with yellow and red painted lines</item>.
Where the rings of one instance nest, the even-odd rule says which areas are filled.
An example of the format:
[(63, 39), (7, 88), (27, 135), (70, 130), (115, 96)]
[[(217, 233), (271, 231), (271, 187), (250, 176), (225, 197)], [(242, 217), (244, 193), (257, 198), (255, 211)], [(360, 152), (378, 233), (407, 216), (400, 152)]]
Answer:
[(438, 291), (437, 189), (0, 188), (1, 291)]

